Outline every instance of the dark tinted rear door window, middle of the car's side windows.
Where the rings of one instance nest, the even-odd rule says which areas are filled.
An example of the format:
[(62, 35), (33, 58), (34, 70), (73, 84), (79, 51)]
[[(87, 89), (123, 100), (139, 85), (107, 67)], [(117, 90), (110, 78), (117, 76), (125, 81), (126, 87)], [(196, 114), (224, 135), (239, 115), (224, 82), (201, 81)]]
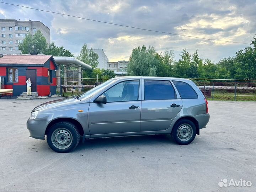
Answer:
[(144, 100), (175, 99), (170, 81), (144, 80)]

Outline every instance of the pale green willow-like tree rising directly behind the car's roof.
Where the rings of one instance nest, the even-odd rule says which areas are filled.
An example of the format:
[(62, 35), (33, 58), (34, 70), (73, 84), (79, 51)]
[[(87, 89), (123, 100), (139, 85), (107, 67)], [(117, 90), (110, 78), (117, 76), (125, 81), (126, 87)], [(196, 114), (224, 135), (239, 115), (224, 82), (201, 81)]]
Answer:
[(155, 57), (156, 51), (154, 47), (133, 49), (130, 55), (127, 72), (131, 76), (156, 76), (159, 67), (159, 59)]

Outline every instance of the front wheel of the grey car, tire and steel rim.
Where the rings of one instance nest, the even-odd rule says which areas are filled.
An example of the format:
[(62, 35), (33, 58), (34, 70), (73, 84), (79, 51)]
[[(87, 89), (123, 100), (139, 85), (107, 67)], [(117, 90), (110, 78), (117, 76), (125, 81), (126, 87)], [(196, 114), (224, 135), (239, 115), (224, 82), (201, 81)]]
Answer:
[[(57, 136), (56, 140), (53, 138), (55, 135)], [(47, 133), (47, 143), (49, 147), (58, 153), (68, 153), (72, 151), (76, 148), (79, 141), (79, 130), (70, 122), (55, 123)]]

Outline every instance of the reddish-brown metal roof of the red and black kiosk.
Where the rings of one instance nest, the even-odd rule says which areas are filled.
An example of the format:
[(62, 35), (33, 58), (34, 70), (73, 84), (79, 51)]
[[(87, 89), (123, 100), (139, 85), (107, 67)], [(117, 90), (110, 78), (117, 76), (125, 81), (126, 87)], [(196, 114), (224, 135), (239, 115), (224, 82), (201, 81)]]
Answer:
[(0, 58), (0, 64), (31, 64), (46, 63), (52, 55), (4, 55)]

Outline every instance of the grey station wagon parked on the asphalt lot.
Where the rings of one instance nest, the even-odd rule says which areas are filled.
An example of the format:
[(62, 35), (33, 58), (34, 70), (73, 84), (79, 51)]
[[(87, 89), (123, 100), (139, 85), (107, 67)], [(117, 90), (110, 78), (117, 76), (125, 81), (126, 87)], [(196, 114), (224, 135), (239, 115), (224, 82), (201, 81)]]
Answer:
[(209, 121), (208, 103), (188, 79), (118, 77), (80, 96), (50, 101), (33, 109), (30, 135), (66, 153), (85, 139), (126, 135), (171, 134), (180, 145), (191, 143)]

